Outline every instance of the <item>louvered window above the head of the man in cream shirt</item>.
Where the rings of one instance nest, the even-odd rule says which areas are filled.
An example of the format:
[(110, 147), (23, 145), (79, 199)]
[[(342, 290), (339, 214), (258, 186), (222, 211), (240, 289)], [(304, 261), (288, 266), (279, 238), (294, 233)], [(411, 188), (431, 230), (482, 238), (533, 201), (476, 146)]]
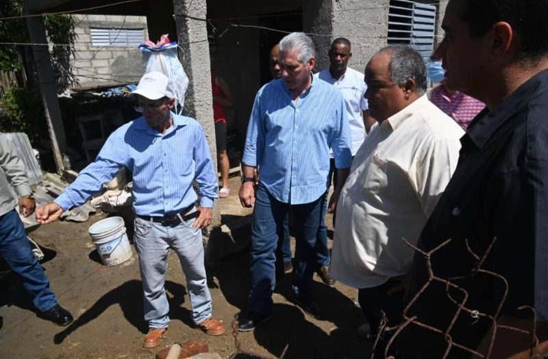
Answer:
[(436, 6), (409, 0), (390, 0), (388, 44), (408, 44), (425, 59), (434, 50)]

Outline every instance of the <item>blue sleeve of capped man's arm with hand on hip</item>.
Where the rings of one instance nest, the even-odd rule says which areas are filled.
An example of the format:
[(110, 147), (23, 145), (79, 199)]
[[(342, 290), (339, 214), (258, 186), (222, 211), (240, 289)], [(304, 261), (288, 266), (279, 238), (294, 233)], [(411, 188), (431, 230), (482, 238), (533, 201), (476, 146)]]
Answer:
[(203, 129), (197, 125), (195, 134), (194, 161), (196, 163), (195, 180), (198, 183), (198, 194), (201, 207), (212, 208), (217, 198), (217, 180), (213, 161)]

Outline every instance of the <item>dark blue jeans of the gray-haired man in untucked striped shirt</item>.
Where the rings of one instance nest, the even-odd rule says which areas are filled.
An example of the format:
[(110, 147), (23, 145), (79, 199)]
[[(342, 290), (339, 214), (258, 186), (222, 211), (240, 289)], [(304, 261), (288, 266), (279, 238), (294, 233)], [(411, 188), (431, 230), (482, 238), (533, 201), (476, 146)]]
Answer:
[(297, 299), (310, 299), (312, 276), (316, 269), (317, 237), (325, 215), (324, 197), (307, 204), (279, 202), (264, 185), (255, 195), (251, 224), (251, 294), (249, 309), (256, 313), (272, 312), (272, 293), (276, 284), (276, 247), (284, 231), (284, 220), (291, 210), (295, 218), (295, 261), (293, 291)]

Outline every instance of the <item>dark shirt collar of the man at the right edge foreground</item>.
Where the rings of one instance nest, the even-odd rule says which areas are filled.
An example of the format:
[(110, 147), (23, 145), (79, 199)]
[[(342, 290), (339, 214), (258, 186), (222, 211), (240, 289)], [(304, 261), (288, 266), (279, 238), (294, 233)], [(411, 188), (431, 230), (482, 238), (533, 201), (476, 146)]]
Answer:
[(548, 70), (543, 70), (512, 92), (493, 111), (486, 108), (480, 112), (471, 123), (467, 135), (478, 148), (482, 148), (491, 135), (509, 118), (527, 106), (534, 98), (547, 91)]

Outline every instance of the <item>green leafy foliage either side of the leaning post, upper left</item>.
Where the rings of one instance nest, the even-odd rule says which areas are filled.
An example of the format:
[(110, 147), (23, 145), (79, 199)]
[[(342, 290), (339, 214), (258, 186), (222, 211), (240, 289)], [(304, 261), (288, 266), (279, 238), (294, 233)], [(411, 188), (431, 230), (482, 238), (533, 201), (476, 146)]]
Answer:
[[(18, 43), (0, 45), (0, 71), (12, 72), (16, 81), (0, 88), (0, 131), (25, 132), (34, 144), (40, 134), (45, 135), (45, 114), (36, 79), (32, 46), (23, 15), (23, 0), (1, 0), (0, 17), (15, 16), (0, 21), (0, 42)], [(49, 44), (49, 55), (56, 90), (62, 94), (75, 82), (71, 68), (74, 53), (75, 19), (69, 15), (46, 15), (44, 25)], [(68, 46), (65, 46), (68, 45)]]

